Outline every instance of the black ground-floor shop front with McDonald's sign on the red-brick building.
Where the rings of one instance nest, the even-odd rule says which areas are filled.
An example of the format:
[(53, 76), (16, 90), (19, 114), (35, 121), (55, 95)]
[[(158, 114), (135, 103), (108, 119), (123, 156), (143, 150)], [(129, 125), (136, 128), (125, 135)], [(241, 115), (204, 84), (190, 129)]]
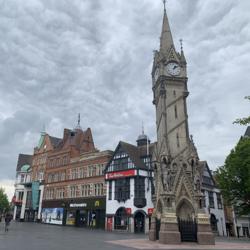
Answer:
[[(60, 214), (63, 215), (61, 218), (61, 225), (105, 228), (105, 198), (79, 198), (62, 201), (46, 201), (43, 203), (42, 218), (44, 218), (44, 211), (49, 208), (52, 209), (52, 207), (53, 209), (60, 209)], [(54, 212), (52, 218), (55, 217), (56, 212)], [(45, 223), (50, 223), (45, 220), (43, 221)]]

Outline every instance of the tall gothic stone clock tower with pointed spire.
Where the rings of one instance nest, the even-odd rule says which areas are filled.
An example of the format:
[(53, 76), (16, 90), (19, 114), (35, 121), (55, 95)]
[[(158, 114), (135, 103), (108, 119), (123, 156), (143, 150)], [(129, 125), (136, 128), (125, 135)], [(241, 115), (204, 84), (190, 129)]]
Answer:
[[(182, 46), (181, 46), (182, 47)], [(155, 205), (150, 240), (214, 244), (201, 193), (202, 164), (188, 131), (187, 70), (178, 53), (164, 8), (160, 50), (152, 69), (157, 144), (154, 150)]]

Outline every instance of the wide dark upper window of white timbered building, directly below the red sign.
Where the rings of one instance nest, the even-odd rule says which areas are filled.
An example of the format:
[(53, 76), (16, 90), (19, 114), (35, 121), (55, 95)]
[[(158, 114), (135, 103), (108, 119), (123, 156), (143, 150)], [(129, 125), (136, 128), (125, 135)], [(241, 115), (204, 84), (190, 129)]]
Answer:
[(126, 201), (130, 198), (130, 178), (115, 180), (115, 200)]

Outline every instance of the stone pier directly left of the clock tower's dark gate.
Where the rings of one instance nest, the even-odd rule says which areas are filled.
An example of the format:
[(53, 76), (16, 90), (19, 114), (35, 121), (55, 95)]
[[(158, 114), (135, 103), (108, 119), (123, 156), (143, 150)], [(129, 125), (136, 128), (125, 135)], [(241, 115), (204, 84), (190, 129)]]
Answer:
[(161, 218), (161, 229), (159, 233), (159, 243), (179, 244), (181, 236), (179, 232), (177, 217), (175, 213), (164, 213)]

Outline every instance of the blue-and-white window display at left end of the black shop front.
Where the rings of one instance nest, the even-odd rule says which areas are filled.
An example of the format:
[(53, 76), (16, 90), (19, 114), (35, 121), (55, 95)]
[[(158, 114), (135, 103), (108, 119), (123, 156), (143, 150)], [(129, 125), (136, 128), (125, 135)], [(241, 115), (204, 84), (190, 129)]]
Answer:
[(63, 224), (63, 208), (43, 208), (42, 222), (48, 224)]

